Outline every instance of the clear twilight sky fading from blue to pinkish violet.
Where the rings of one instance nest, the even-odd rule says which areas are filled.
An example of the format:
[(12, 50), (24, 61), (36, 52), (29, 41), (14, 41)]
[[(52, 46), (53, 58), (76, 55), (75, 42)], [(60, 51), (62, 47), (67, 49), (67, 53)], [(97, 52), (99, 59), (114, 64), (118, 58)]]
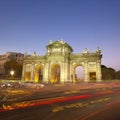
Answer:
[(60, 39), (74, 53), (100, 47), (102, 64), (120, 70), (120, 0), (0, 0), (0, 54), (44, 55)]

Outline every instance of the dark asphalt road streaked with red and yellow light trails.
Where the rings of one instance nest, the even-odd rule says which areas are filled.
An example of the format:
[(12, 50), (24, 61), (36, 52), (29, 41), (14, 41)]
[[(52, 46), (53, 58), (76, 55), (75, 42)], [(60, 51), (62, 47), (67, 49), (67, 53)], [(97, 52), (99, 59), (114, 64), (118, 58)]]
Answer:
[(14, 93), (14, 96), (4, 102), (4, 109), (0, 112), (1, 120), (120, 119), (119, 87), (24, 92), (25, 94)]

